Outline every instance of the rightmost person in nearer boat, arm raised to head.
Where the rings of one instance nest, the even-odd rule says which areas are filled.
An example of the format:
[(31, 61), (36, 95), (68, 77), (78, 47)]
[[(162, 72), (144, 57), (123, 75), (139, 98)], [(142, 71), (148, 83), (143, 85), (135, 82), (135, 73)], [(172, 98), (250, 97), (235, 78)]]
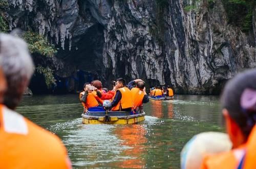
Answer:
[(127, 87), (132, 92), (133, 109), (136, 109), (143, 103), (147, 103), (150, 101), (146, 93), (145, 82), (141, 79), (136, 79), (129, 82)]

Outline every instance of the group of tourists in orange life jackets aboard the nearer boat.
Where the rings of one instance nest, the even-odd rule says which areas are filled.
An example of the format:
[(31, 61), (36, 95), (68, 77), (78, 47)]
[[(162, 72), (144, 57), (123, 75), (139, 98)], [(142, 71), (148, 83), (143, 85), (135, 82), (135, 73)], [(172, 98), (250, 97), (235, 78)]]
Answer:
[(140, 106), (149, 101), (143, 80), (133, 80), (126, 86), (125, 80), (122, 78), (113, 82), (112, 90), (102, 88), (102, 83), (99, 80), (85, 83), (83, 91), (79, 94), (79, 99), (84, 107), (84, 112), (87, 110), (104, 111), (103, 101), (108, 100), (111, 102), (112, 111), (139, 113)]

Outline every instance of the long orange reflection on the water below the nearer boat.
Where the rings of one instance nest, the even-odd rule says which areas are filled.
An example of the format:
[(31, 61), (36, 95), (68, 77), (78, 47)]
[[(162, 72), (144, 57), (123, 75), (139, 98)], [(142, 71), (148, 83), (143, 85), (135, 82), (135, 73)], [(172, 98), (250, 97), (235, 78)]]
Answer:
[(147, 142), (146, 130), (143, 125), (126, 125), (118, 126), (114, 133), (122, 140), (120, 146), (128, 147), (124, 150), (121, 156), (125, 157), (123, 161), (114, 163), (114, 166), (121, 168), (144, 168), (146, 165), (145, 159), (142, 157), (145, 151)]

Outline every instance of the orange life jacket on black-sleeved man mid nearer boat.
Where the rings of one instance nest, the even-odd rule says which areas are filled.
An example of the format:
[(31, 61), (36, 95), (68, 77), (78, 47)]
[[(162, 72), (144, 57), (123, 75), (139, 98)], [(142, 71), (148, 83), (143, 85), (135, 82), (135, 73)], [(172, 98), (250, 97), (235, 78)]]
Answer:
[[(122, 109), (132, 108), (133, 107), (133, 101), (132, 101), (132, 93), (131, 90), (127, 87), (121, 87), (117, 89), (121, 92), (122, 98), (118, 102), (118, 104), (112, 108), (112, 111), (118, 111)], [(116, 93), (115, 93), (116, 95)], [(115, 96), (114, 96), (115, 98)], [(113, 99), (114, 99), (113, 98)]]

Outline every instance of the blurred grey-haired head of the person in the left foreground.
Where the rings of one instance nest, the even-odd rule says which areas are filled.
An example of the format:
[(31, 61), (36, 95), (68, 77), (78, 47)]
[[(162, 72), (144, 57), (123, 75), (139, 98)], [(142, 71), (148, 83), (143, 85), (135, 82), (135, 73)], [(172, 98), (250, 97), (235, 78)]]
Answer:
[(4, 104), (14, 109), (34, 72), (27, 43), (19, 37), (0, 33), (0, 66), (8, 84)]

